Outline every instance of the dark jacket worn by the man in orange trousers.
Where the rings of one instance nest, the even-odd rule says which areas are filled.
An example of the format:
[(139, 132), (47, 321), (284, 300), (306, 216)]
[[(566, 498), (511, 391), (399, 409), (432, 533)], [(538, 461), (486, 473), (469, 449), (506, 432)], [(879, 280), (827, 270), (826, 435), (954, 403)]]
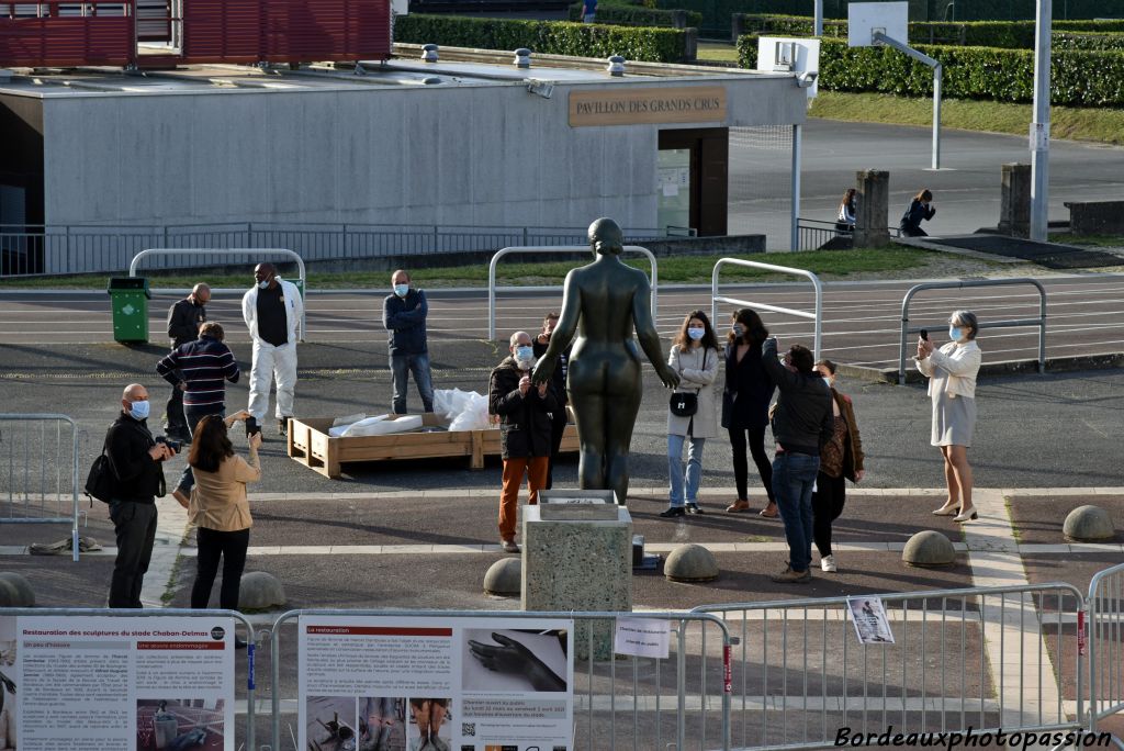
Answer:
[(525, 373), (516, 365), (515, 358), (508, 356), (492, 370), (488, 383), (488, 414), (500, 417), (504, 459), (551, 455), (550, 413), (560, 406), (550, 388), (544, 397), (538, 396), (534, 384), (526, 397), (519, 393), (519, 379)]

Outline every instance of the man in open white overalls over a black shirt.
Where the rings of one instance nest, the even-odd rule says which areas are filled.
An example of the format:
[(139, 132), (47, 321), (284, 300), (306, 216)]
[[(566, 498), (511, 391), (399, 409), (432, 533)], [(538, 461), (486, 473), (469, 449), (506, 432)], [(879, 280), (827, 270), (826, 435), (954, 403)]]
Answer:
[(278, 384), (278, 432), (289, 432), (292, 400), (297, 390), (297, 325), (305, 313), (305, 301), (292, 282), (278, 277), (272, 263), (254, 268), (254, 286), (242, 298), (242, 317), (254, 341), (250, 368), (251, 417), (247, 433), (265, 419), (270, 408), (271, 381)]

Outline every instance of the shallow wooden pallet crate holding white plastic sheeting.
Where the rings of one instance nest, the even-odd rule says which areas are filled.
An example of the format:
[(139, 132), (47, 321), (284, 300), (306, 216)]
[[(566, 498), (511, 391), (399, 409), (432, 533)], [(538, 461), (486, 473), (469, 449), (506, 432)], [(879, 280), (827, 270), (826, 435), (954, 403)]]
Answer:
[[(434, 414), (422, 416), (427, 427), (446, 427)], [(395, 459), (444, 459), (465, 456), (472, 469), (483, 469), (484, 456), (499, 456), (499, 428), (486, 431), (436, 431), (334, 438), (330, 417), (289, 420), (289, 456), (327, 478), (338, 478), (341, 464)], [(566, 425), (560, 451), (578, 451), (578, 429)]]

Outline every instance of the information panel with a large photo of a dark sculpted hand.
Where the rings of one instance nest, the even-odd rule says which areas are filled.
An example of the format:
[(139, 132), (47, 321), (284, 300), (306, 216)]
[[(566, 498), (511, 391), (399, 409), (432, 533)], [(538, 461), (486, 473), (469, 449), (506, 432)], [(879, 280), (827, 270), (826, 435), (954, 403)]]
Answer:
[(301, 749), (571, 748), (572, 619), (302, 616), (299, 631)]

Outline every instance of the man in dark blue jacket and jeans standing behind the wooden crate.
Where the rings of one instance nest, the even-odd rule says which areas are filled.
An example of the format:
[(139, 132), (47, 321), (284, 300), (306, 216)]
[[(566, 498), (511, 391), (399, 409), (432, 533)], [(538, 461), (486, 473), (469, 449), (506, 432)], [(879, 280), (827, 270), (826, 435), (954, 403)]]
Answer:
[(390, 351), (390, 373), (395, 387), (393, 411), (406, 414), (406, 381), (414, 373), (414, 383), (425, 411), (433, 411), (433, 379), (429, 376), (429, 349), (425, 319), (429, 305), (425, 292), (410, 287), (410, 275), (399, 269), (391, 275), (393, 293), (382, 301), (382, 325), (387, 329)]

